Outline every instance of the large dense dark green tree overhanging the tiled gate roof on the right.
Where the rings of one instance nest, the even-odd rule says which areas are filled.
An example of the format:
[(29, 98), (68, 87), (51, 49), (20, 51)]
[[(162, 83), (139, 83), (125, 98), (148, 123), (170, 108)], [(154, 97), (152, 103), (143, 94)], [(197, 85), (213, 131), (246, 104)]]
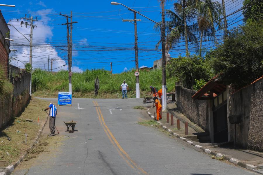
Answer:
[(262, 24), (247, 20), (244, 26), (229, 31), (224, 43), (209, 54), (214, 57), (215, 73), (225, 84), (240, 88), (263, 75)]

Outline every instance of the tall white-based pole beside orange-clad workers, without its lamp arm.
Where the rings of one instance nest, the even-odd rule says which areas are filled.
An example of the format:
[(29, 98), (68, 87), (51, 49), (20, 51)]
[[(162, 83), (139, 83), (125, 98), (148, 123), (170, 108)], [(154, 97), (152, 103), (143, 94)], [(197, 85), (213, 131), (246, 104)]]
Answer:
[(161, 24), (161, 41), (162, 41), (162, 111), (166, 110), (166, 55), (165, 55), (165, 0), (161, 0), (162, 7), (162, 24)]

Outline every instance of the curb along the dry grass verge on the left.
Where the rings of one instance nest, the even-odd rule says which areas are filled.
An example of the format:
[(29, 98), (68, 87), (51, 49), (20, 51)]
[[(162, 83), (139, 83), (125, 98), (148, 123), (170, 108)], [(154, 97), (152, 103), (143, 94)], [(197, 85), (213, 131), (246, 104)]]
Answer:
[[(37, 139), (39, 139), (39, 136), (42, 134), (43, 128), (46, 126), (46, 123), (48, 121), (49, 116), (47, 116), (46, 121), (44, 122), (44, 125), (42, 126), (41, 129), (39, 129), (37, 136), (35, 138), (35, 141), (32, 143), (32, 145), (27, 149), (30, 150), (32, 149), (33, 145), (37, 143)], [(22, 155), (19, 157), (18, 161), (16, 162), (12, 162), (11, 164), (9, 164), (4, 170), (2, 170), (2, 172), (0, 172), (0, 175), (10, 175), (12, 173), (12, 171), (14, 171), (14, 169), (18, 166), (18, 164), (20, 164), (20, 162), (23, 161), (23, 159), (27, 156), (27, 152), (23, 152)]]

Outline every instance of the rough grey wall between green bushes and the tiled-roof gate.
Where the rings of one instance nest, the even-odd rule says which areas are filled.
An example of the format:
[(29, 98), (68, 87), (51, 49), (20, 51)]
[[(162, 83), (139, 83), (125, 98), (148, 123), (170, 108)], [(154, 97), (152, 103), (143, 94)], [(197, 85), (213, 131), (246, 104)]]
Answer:
[(196, 93), (194, 90), (175, 86), (175, 99), (177, 108), (189, 120), (199, 125), (205, 131), (209, 132), (208, 117), (209, 104), (206, 100), (194, 100), (192, 95)]

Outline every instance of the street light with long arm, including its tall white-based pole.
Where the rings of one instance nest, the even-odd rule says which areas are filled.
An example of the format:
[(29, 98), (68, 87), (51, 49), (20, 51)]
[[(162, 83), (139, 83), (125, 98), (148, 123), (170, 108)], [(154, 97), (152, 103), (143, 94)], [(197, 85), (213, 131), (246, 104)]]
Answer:
[(161, 41), (162, 41), (162, 111), (166, 110), (166, 55), (165, 55), (165, 13), (164, 13), (164, 2), (165, 0), (161, 0), (161, 6), (162, 6), (162, 22), (161, 24), (144, 16), (143, 14), (125, 6), (122, 3), (118, 3), (118, 2), (111, 2), (110, 4), (112, 5), (122, 5), (126, 8), (128, 8), (129, 10), (133, 11), (134, 13), (138, 13), (139, 15), (147, 18), (148, 20), (158, 24), (161, 27)]

